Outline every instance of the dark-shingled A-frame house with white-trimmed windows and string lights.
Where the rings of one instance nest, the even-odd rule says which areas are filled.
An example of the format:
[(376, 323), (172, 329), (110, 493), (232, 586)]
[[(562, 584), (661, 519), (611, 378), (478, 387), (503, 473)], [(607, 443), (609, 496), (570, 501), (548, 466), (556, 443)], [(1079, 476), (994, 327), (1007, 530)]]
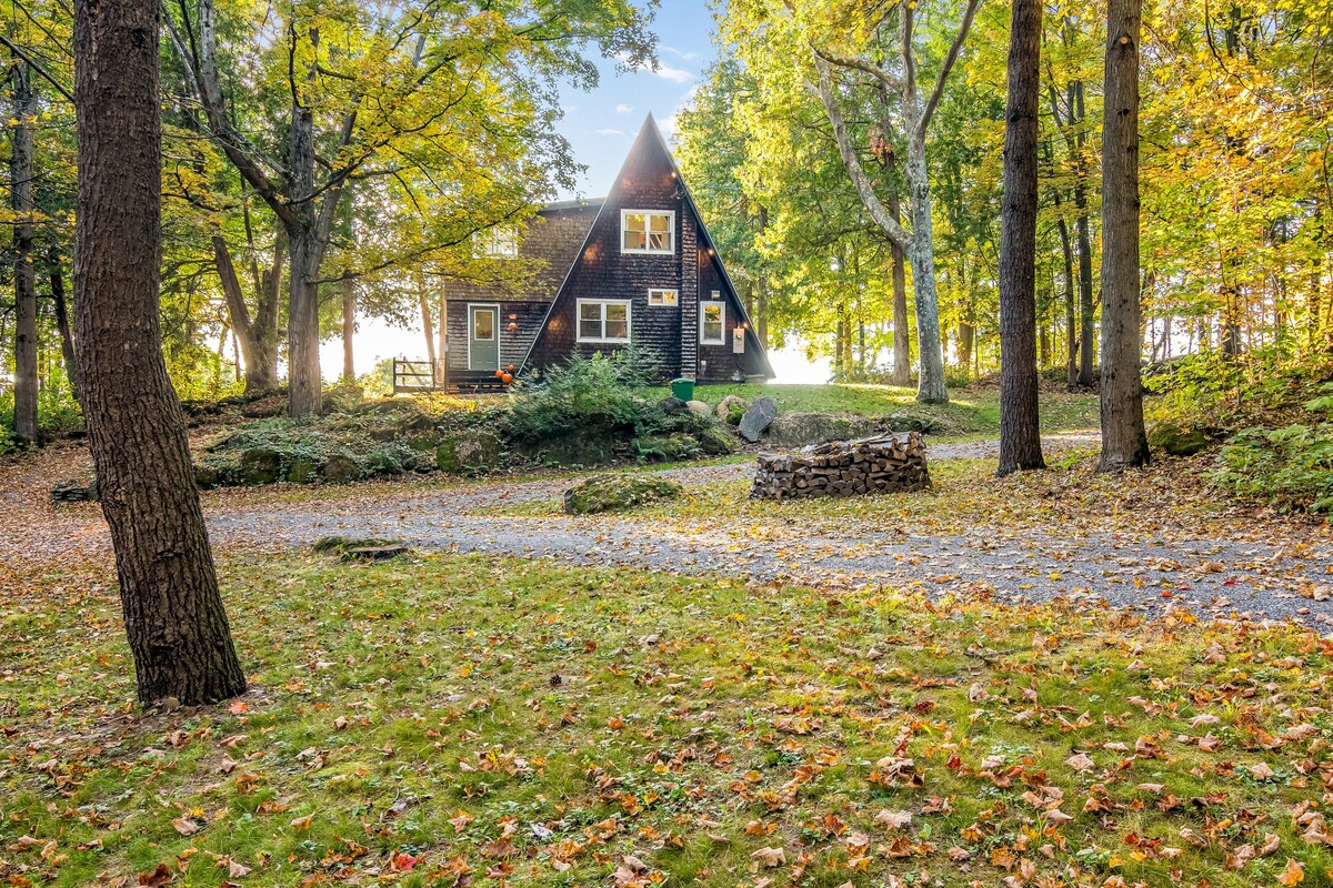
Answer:
[(600, 201), (543, 208), (521, 242), (495, 256), (541, 260), (523, 292), (451, 282), (445, 292), (452, 387), (496, 370), (543, 369), (571, 354), (651, 349), (669, 377), (700, 382), (773, 375), (698, 206), (652, 116)]

